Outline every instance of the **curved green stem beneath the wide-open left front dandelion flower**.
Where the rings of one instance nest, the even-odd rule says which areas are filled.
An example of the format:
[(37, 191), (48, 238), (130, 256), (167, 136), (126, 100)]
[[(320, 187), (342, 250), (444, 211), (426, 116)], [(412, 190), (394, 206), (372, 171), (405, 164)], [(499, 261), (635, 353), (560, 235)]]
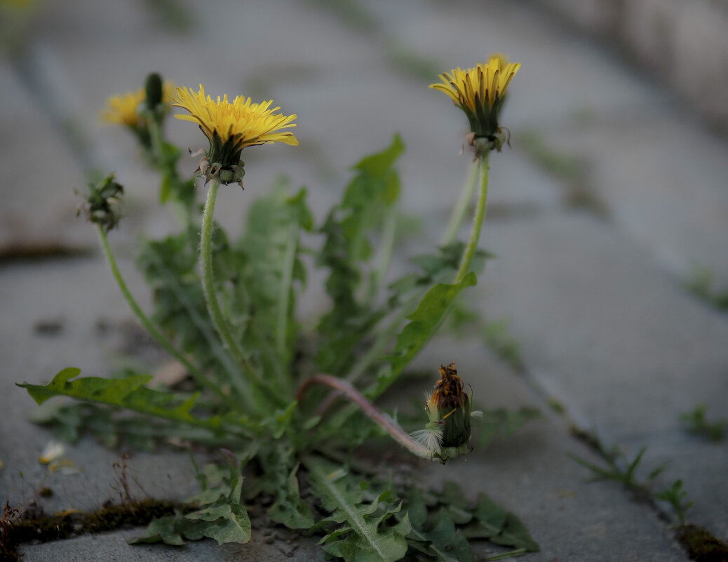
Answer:
[(220, 308), (217, 293), (215, 292), (212, 251), (213, 215), (215, 214), (215, 199), (217, 199), (218, 196), (219, 186), (220, 180), (218, 179), (214, 179), (210, 182), (210, 189), (207, 190), (205, 210), (202, 213), (202, 234), (200, 235), (199, 243), (199, 262), (202, 265), (202, 290), (205, 293), (207, 312), (210, 313), (210, 318), (213, 320), (215, 330), (217, 330), (218, 334), (220, 334), (223, 344), (225, 344), (235, 360), (242, 365), (242, 368), (245, 370), (245, 373), (248, 374), (250, 379), (252, 379), (252, 381), (259, 387), (263, 387), (263, 381), (261, 381), (258, 373), (253, 371), (253, 366), (250, 365), (247, 357), (245, 357), (242, 349), (240, 349), (240, 346), (237, 344), (237, 341), (235, 341), (232, 337), (232, 333), (230, 333), (230, 329)]

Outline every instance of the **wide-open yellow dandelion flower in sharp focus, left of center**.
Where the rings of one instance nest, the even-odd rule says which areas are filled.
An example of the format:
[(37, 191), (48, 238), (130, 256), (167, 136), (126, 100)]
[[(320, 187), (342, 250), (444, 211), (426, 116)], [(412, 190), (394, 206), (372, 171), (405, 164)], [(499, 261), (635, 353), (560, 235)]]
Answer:
[(224, 170), (231, 173), (219, 175), (223, 183), (240, 181), (242, 162), (240, 152), (246, 146), (265, 143), (285, 143), (298, 145), (298, 139), (288, 127), (296, 127), (296, 115), (276, 114), (280, 107), (271, 108), (273, 101), (253, 103), (250, 98), (237, 96), (232, 103), (227, 95), (217, 101), (205, 95), (205, 88), (199, 84), (199, 92), (188, 88), (177, 88), (177, 98), (172, 104), (183, 108), (189, 115), (175, 115), (178, 119), (199, 125), (210, 141), (207, 159), (200, 164), (200, 170), (208, 175), (210, 168), (213, 177)]

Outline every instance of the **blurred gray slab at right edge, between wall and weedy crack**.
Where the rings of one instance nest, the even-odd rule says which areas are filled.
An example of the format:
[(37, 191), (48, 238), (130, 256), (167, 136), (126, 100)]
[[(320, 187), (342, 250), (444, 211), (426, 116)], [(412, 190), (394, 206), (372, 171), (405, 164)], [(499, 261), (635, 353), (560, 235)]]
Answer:
[(679, 280), (708, 269), (728, 282), (724, 138), (667, 111), (534, 130), (553, 154), (582, 162), (585, 189)]

